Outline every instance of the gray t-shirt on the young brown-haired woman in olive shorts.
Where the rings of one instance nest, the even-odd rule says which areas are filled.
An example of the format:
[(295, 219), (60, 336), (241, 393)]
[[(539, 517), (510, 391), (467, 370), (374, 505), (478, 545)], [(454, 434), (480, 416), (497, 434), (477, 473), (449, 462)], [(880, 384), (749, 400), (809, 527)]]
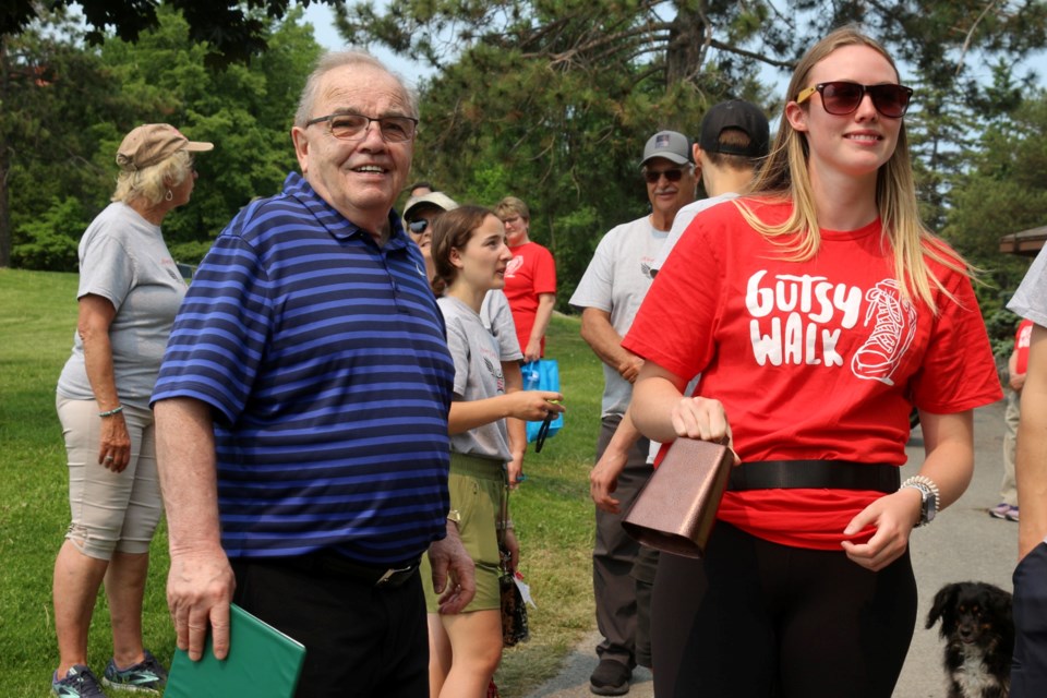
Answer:
[[(498, 342), (471, 308), (457, 298), (436, 301), (447, 324), (447, 347), (455, 360), (455, 399), (483, 400), (505, 394), (505, 376)], [(450, 449), (467, 456), (481, 456), (508, 462), (509, 435), (504, 419), (461, 434), (452, 434)]]

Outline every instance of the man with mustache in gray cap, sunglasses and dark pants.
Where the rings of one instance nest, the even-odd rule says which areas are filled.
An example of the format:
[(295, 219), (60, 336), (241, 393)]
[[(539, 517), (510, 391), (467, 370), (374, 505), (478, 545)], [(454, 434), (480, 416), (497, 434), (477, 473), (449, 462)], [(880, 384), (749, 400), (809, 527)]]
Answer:
[[(642, 364), (638, 357), (622, 350), (621, 341), (650, 288), (650, 265), (677, 212), (694, 201), (698, 183), (690, 143), (676, 131), (660, 131), (648, 140), (640, 171), (647, 182), (651, 213), (604, 236), (570, 299), (571, 305), (582, 309), (582, 338), (604, 364), (602, 429), (592, 477), (597, 478), (605, 467), (618, 473), (616, 498), (597, 501), (592, 554), (597, 625), (603, 640), (597, 647), (600, 663), (590, 678), (590, 689), (601, 696), (628, 693), (633, 667), (651, 665), (643, 622), (648, 616), (649, 585), (637, 583), (630, 574), (640, 546), (621, 525), (621, 513), (652, 472), (650, 444), (631, 430), (628, 447), (605, 454), (612, 435), (619, 430), (631, 399), (633, 381)], [(613, 459), (610, 466), (605, 465), (609, 459)]]

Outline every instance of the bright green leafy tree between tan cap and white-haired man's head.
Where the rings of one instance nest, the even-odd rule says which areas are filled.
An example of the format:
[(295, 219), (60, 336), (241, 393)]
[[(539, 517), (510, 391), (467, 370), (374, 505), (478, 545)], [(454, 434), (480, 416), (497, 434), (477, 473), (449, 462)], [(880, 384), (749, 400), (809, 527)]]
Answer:
[(213, 71), (205, 64), (206, 47), (188, 40), (185, 20), (165, 8), (159, 17), (159, 27), (136, 44), (111, 39), (101, 55), (129, 99), (145, 107), (122, 132), (142, 121), (165, 121), (215, 144), (196, 157), (200, 179), (192, 202), (164, 221), (176, 257), (197, 262), (200, 241), (217, 236), (253, 196), (279, 191), (297, 167), (290, 125), (320, 48), (298, 25), (301, 11), (296, 10), (267, 37), (270, 48), (264, 55)]

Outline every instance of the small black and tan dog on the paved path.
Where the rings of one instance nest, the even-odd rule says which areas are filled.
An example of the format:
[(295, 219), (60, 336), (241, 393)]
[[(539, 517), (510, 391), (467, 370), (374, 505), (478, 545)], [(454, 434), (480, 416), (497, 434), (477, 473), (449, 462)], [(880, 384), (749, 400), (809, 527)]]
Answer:
[(935, 595), (927, 627), (939, 619), (948, 698), (1007, 698), (1014, 649), (1011, 594), (980, 581), (946, 585)]

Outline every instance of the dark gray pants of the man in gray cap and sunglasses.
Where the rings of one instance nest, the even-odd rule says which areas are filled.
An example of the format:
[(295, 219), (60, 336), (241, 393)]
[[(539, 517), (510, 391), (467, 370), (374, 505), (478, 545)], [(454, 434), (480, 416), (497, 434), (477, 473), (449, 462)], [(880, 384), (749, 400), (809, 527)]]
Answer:
[[(611, 442), (621, 417), (605, 417), (597, 443), (597, 459)], [(653, 472), (647, 465), (649, 442), (640, 438), (629, 453), (625, 470), (618, 477), (614, 492), (622, 512), (628, 509), (633, 497)], [(592, 590), (597, 602), (597, 627), (603, 641), (597, 646), (600, 659), (636, 666), (636, 580), (633, 564), (639, 543), (622, 528), (622, 516), (597, 509), (595, 544), (592, 550)]]

